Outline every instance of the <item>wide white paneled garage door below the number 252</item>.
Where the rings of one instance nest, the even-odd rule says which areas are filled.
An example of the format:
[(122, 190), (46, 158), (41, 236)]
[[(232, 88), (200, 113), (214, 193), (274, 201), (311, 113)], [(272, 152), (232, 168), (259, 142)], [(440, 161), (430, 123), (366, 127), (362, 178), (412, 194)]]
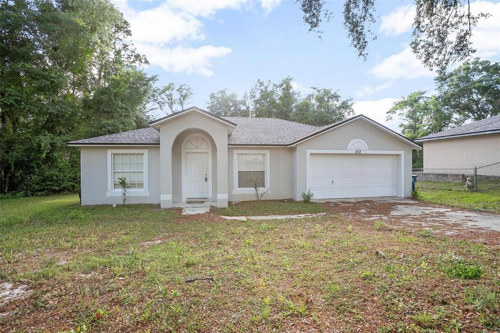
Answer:
[(397, 155), (311, 153), (315, 199), (397, 196)]

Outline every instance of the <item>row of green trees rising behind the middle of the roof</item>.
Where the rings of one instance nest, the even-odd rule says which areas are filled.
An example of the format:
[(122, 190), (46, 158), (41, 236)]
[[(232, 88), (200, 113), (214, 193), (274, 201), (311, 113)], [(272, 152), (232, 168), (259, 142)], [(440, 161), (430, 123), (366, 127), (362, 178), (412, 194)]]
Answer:
[(342, 99), (328, 88), (312, 87), (305, 97), (293, 88), (287, 76), (277, 83), (257, 80), (243, 98), (227, 89), (212, 92), (208, 111), (221, 116), (274, 117), (323, 126), (354, 114), (352, 99)]

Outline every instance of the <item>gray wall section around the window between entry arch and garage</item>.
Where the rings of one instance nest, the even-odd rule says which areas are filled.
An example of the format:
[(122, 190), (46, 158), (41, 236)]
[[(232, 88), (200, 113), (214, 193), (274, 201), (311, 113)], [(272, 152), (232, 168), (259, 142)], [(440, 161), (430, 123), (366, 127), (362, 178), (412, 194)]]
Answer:
[(268, 150), (269, 151), (269, 182), (270, 190), (262, 199), (288, 199), (293, 195), (293, 147), (234, 147), (227, 149), (227, 179), (229, 185), (229, 201), (255, 200), (255, 192), (237, 194), (234, 183), (234, 150)]

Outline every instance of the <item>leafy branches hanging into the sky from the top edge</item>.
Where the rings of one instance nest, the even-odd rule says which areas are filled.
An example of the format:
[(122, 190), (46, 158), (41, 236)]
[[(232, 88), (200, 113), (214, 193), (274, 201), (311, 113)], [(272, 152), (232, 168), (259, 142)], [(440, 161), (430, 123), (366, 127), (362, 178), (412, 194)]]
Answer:
[[(320, 36), (321, 24), (334, 17), (327, 0), (296, 0), (309, 31)], [(470, 36), (479, 19), (488, 13), (472, 13), (466, 0), (413, 0), (415, 18), (411, 50), (430, 69), (443, 72), (456, 61), (475, 52)], [(366, 58), (368, 39), (375, 39), (371, 30), (375, 19), (375, 0), (344, 0), (343, 24), (358, 56)]]

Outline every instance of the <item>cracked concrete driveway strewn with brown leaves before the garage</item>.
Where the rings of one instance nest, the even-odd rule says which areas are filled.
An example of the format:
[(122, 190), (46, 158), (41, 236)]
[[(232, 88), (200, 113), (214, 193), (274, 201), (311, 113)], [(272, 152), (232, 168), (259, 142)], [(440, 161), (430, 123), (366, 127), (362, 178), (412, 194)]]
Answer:
[(432, 228), (435, 232), (500, 245), (500, 215), (436, 206), (404, 198), (328, 200), (334, 212), (364, 221), (381, 220), (400, 228)]

